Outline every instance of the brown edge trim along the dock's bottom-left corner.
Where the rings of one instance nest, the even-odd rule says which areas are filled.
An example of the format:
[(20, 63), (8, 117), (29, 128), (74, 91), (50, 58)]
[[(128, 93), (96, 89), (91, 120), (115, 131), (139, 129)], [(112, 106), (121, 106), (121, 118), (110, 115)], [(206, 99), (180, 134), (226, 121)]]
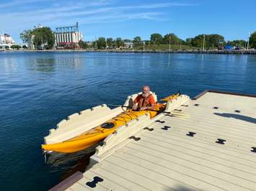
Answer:
[(66, 178), (62, 182), (58, 183), (58, 185), (52, 187), (49, 191), (63, 191), (74, 185), (77, 181), (81, 180), (84, 177), (84, 174), (81, 172), (76, 172), (72, 174), (70, 177)]

